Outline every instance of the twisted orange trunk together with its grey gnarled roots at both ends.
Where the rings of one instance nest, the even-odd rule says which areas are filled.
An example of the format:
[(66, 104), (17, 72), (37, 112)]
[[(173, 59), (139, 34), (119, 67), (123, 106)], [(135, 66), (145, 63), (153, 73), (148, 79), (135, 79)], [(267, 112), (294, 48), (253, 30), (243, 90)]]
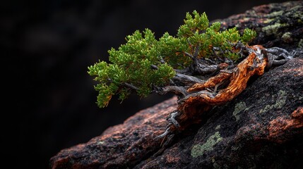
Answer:
[[(210, 77), (206, 82), (191, 85), (186, 92), (182, 91), (184, 97), (180, 97), (177, 101), (177, 111), (171, 113), (168, 118), (170, 125), (158, 138), (165, 137), (175, 130), (184, 130), (191, 124), (200, 123), (203, 114), (215, 106), (232, 101), (246, 89), (250, 77), (263, 75), (266, 68), (284, 64), (296, 54), (294, 51), (288, 52), (277, 47), (264, 49), (260, 45), (242, 45), (239, 48), (242, 55), (248, 54), (248, 56), (237, 66), (228, 70), (228, 64), (221, 63), (217, 66), (218, 74)], [(212, 71), (214, 73), (214, 70)], [(193, 81), (196, 79), (191, 80)]]

